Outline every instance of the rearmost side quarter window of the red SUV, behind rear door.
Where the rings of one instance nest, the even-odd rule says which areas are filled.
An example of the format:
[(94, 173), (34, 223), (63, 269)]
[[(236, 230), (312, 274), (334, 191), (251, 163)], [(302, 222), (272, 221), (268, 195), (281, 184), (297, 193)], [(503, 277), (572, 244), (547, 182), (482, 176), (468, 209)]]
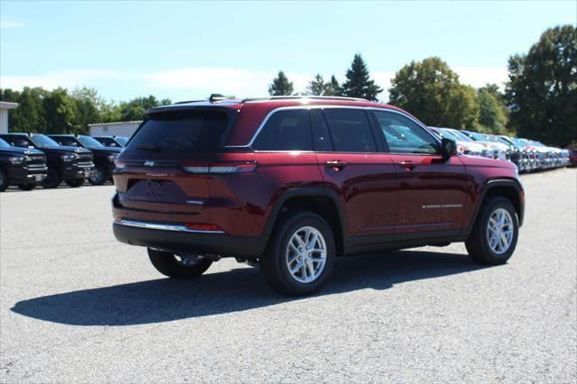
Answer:
[(284, 110), (271, 114), (252, 147), (259, 151), (312, 151), (308, 111)]

